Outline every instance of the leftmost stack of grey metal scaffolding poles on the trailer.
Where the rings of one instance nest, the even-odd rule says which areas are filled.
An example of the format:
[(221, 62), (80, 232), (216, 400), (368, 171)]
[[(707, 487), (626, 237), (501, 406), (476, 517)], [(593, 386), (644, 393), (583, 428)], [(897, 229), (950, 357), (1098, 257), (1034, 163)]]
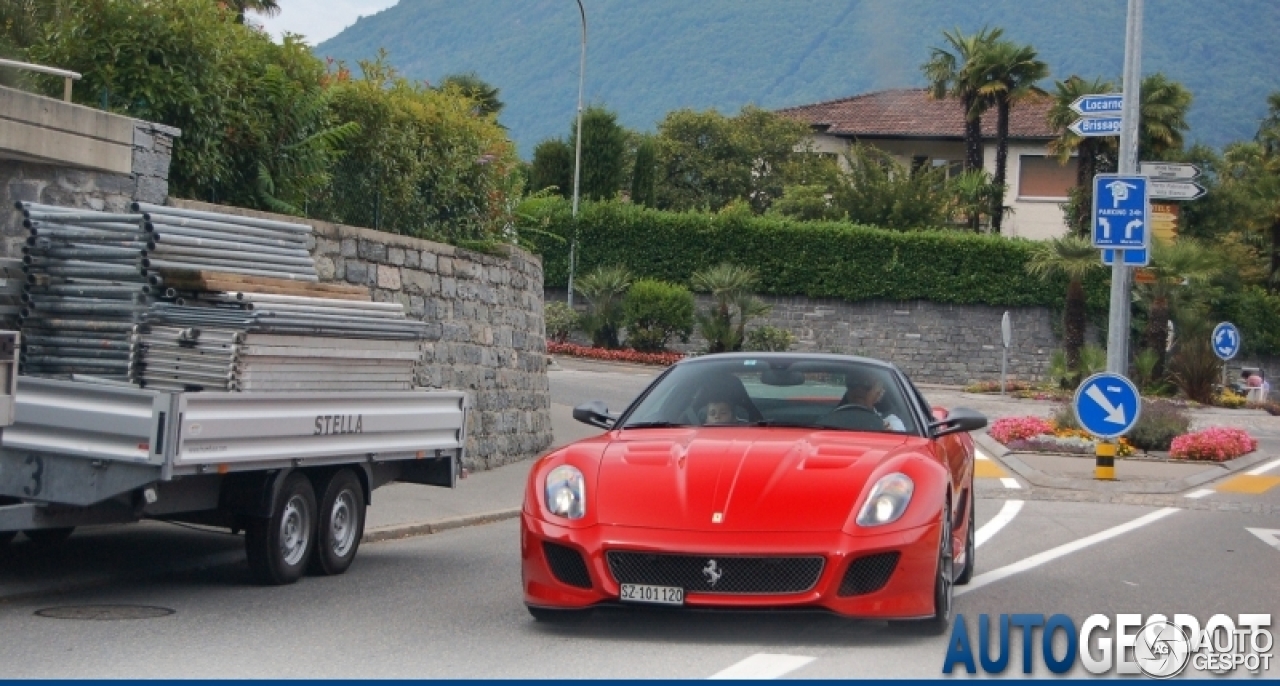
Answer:
[(131, 331), (151, 299), (138, 257), (141, 218), (19, 202), (23, 247), (22, 372), (125, 380)]

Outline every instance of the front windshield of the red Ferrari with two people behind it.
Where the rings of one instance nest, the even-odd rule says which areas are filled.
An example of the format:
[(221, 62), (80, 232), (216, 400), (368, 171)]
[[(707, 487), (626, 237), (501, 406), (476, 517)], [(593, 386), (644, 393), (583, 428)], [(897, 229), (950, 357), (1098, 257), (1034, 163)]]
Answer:
[(680, 365), (663, 376), (623, 429), (801, 426), (916, 433), (895, 374), (840, 360), (731, 358)]

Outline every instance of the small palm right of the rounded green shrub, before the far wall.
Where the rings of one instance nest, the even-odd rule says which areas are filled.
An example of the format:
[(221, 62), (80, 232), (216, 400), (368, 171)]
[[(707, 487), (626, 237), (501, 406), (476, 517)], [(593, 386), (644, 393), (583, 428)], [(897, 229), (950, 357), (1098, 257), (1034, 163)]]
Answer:
[(696, 316), (698, 328), (707, 339), (707, 352), (742, 349), (746, 323), (769, 312), (769, 306), (753, 294), (755, 270), (723, 262), (695, 271), (690, 280), (694, 291), (710, 293), (714, 301), (709, 312)]

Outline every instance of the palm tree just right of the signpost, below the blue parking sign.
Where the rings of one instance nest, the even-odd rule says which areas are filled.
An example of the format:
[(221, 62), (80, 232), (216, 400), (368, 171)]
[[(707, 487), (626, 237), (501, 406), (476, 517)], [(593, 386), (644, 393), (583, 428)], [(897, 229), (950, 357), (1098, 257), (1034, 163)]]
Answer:
[(1152, 379), (1165, 374), (1165, 347), (1169, 337), (1169, 315), (1184, 284), (1206, 284), (1221, 271), (1217, 255), (1190, 238), (1166, 243), (1153, 239), (1151, 264), (1147, 271), (1155, 283), (1143, 284), (1139, 292), (1149, 301), (1147, 311), (1146, 347), (1156, 353)]

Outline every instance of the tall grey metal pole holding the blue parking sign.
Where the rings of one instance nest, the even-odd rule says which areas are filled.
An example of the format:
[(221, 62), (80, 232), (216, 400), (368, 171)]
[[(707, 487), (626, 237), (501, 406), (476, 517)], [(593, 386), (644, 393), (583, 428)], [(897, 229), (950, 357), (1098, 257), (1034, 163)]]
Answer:
[[(1120, 113), (1120, 174), (1138, 172), (1138, 102), (1142, 87), (1142, 3), (1129, 0), (1124, 41), (1124, 106)], [(1111, 264), (1111, 311), (1107, 319), (1107, 371), (1129, 371), (1129, 267), (1124, 251)]]

